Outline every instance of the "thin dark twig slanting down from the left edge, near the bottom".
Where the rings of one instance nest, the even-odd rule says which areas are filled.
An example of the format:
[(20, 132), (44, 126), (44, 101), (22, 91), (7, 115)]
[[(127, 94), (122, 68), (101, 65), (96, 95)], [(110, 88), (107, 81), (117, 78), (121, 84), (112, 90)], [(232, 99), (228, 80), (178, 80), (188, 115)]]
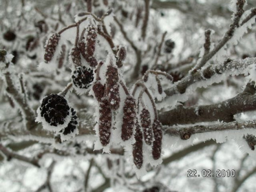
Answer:
[(30, 164), (32, 164), (36, 167), (40, 167), (37, 160), (31, 159), (31, 158), (28, 158), (28, 157), (25, 157), (25, 156), (22, 156), (22, 155), (19, 155), (19, 154), (16, 154), (16, 153), (8, 150), (8, 148), (6, 148), (1, 143), (0, 143), (0, 152), (2, 152), (7, 157), (7, 160), (11, 160), (12, 158), (14, 158), (14, 159), (17, 159), (17, 160), (20, 160), (20, 161), (30, 163)]

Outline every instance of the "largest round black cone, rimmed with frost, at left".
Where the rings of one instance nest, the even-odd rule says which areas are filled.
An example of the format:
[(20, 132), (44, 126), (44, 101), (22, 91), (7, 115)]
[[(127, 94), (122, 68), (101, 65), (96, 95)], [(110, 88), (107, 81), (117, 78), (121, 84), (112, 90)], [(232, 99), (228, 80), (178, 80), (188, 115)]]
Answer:
[(57, 94), (46, 96), (41, 103), (41, 117), (52, 126), (64, 124), (65, 118), (69, 115), (70, 107), (67, 100)]

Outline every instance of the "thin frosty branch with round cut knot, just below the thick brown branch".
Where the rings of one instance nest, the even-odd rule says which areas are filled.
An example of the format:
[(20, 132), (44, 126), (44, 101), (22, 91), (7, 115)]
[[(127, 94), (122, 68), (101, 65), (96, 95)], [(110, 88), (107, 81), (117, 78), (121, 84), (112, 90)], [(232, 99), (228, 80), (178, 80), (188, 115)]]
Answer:
[(168, 127), (164, 133), (170, 136), (180, 137), (183, 140), (189, 139), (191, 135), (198, 133), (210, 133), (216, 131), (256, 129), (256, 120), (253, 121), (235, 121), (228, 123), (218, 123), (214, 125), (196, 125), (185, 128)]

